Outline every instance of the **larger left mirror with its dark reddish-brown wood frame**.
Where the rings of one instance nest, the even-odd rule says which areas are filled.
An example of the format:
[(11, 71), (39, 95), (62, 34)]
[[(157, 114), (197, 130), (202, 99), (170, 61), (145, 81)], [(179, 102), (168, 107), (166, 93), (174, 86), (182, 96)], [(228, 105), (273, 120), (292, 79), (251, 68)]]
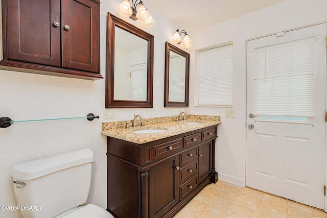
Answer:
[(154, 36), (107, 13), (106, 108), (152, 108)]

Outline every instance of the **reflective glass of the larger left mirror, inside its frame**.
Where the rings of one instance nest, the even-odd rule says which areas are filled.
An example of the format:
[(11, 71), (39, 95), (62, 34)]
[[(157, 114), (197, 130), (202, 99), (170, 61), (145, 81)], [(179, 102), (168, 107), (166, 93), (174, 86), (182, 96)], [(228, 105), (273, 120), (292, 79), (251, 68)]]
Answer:
[(115, 27), (114, 100), (147, 100), (148, 41)]

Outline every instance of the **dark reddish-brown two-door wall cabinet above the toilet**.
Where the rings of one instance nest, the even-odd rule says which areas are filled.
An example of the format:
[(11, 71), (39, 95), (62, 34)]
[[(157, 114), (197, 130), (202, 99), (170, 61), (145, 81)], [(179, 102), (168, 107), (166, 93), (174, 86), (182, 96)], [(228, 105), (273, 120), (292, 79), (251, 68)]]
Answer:
[(38, 74), (103, 78), (98, 0), (2, 0), (2, 18), (0, 65)]

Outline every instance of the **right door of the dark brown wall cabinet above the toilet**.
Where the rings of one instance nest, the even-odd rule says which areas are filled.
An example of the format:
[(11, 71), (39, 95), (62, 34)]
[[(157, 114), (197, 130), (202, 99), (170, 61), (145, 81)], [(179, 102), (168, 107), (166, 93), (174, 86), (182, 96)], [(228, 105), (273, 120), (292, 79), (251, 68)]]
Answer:
[(99, 71), (99, 4), (61, 0), (62, 67)]

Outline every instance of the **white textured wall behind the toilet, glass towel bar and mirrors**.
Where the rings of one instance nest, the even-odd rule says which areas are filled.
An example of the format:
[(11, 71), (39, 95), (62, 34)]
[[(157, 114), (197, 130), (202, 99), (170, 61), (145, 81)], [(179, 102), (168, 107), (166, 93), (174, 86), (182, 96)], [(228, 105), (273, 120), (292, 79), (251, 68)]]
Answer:
[[(118, 15), (121, 0), (101, 1), (101, 75), (106, 68), (107, 12)], [(156, 20), (151, 28), (142, 28), (155, 36), (153, 108), (114, 109), (114, 120), (178, 115), (180, 108), (164, 108), (165, 42), (178, 28), (161, 14), (149, 8)], [(119, 15), (118, 15), (119, 16)], [(141, 27), (137, 21), (127, 19)], [(2, 43), (1, 43), (2, 44)], [(0, 52), (2, 53), (2, 51)], [(105, 111), (105, 79), (88, 81), (23, 72), (0, 70), (0, 117), (12, 120), (86, 116), (100, 119), (57, 120), (13, 124), (0, 129), (0, 205), (15, 205), (10, 170), (12, 165), (82, 148), (94, 151), (91, 192), (88, 203), (107, 208), (106, 137), (101, 135)], [(51, 188), (51, 187), (50, 187)], [(21, 217), (18, 211), (1, 211), (0, 217)]]

